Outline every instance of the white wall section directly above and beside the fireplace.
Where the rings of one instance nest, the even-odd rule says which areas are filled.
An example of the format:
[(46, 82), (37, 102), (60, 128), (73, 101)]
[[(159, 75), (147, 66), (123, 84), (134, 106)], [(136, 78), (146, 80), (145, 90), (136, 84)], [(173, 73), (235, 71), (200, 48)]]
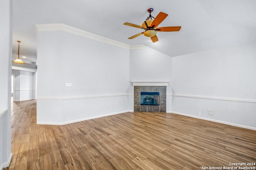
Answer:
[[(145, 49), (130, 50), (131, 81), (171, 82), (171, 75), (172, 57), (169, 57), (168, 55), (160, 53), (146, 46)], [(171, 111), (171, 83), (166, 87), (166, 93), (166, 103), (169, 103), (168, 105), (166, 105), (166, 110)]]

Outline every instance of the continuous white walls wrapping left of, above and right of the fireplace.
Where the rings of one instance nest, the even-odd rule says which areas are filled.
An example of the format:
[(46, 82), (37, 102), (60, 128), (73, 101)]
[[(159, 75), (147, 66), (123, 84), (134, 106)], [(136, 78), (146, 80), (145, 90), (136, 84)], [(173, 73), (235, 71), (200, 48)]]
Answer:
[[(38, 123), (122, 113), (133, 108), (131, 81), (170, 81), (167, 112), (198, 117), (200, 110), (202, 119), (253, 129), (255, 47), (251, 43), (171, 58), (149, 47), (128, 50), (65, 31), (39, 31)], [(214, 116), (207, 108), (214, 109)]]

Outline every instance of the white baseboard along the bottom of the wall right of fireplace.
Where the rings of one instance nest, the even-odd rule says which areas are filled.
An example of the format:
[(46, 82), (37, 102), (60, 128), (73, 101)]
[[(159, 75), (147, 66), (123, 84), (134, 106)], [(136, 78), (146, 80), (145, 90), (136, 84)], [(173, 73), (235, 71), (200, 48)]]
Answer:
[(184, 115), (184, 116), (188, 116), (188, 117), (194, 117), (194, 118), (197, 118), (197, 119), (208, 120), (208, 121), (212, 121), (212, 122), (216, 122), (216, 123), (222, 123), (222, 124), (225, 124), (225, 125), (231, 125), (231, 126), (236, 126), (236, 127), (242, 127), (242, 128), (245, 128), (245, 129), (251, 129), (251, 130), (256, 131), (256, 127), (251, 127), (251, 126), (246, 126), (246, 125), (239, 125), (239, 124), (236, 124), (236, 123), (230, 123), (230, 122), (226, 122), (226, 121), (220, 121), (220, 120), (215, 120), (215, 119), (209, 119), (209, 118), (206, 118), (206, 117), (199, 117), (199, 116), (195, 116), (195, 115), (189, 115), (189, 114), (185, 114), (185, 113), (179, 113), (179, 112), (176, 112), (176, 111), (166, 111), (166, 113), (175, 113), (175, 114), (178, 114), (178, 115)]

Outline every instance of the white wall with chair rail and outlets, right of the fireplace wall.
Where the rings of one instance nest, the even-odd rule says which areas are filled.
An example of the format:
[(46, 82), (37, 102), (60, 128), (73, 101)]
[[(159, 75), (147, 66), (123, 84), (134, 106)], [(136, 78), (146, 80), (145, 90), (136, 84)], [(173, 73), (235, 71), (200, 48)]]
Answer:
[(256, 43), (173, 57), (172, 112), (256, 129), (255, 75)]

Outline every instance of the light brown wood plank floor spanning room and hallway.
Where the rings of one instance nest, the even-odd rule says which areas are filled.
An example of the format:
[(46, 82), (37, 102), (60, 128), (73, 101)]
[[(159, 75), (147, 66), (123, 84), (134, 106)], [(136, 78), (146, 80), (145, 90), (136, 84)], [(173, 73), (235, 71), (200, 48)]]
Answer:
[[(72, 114), (72, 113), (70, 113)], [(37, 125), (36, 101), (14, 102), (10, 170), (193, 170), (256, 162), (256, 131), (171, 113), (122, 113)]]

